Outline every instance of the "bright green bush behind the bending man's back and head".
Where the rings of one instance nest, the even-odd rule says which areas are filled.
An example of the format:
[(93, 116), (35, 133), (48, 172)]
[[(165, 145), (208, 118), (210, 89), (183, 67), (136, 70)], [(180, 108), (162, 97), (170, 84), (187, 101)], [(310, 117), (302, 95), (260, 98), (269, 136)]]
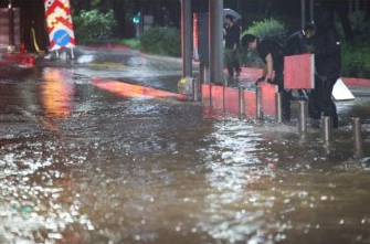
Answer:
[[(271, 18), (262, 21), (253, 22), (253, 24), (242, 33), (243, 38), (246, 33), (255, 36), (267, 38), (284, 43), (286, 38), (285, 24)], [(242, 65), (261, 67), (261, 60), (255, 52), (247, 52), (243, 46), (240, 51), (240, 60)]]

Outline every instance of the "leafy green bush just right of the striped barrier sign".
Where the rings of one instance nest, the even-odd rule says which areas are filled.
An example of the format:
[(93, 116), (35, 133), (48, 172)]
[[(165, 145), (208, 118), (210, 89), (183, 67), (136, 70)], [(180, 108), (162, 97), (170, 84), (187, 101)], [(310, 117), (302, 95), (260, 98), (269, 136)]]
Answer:
[(97, 10), (82, 10), (74, 18), (75, 34), (80, 43), (101, 44), (113, 35), (116, 26), (113, 10), (101, 13)]

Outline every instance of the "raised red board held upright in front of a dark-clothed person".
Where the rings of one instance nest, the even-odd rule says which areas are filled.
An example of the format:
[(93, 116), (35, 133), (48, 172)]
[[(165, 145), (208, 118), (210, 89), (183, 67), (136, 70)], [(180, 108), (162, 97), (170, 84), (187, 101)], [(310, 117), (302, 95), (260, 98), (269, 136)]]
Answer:
[(313, 89), (315, 63), (313, 54), (300, 54), (284, 57), (284, 88)]

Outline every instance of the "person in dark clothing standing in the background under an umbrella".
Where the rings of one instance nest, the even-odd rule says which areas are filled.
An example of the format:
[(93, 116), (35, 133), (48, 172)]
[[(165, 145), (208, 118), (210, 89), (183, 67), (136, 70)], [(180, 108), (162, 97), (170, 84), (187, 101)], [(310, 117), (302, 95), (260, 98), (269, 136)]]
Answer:
[(225, 38), (225, 61), (228, 64), (229, 77), (234, 77), (234, 68), (235, 76), (239, 77), (241, 74), (241, 67), (237, 60), (237, 49), (240, 45), (240, 28), (234, 22), (233, 15), (226, 15), (226, 28), (224, 31)]

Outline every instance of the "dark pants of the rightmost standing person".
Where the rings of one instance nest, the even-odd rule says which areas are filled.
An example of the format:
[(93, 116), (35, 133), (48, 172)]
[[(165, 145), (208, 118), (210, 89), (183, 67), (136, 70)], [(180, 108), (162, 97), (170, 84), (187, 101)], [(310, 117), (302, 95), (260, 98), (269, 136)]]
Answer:
[(321, 115), (330, 116), (332, 127), (338, 128), (338, 114), (336, 104), (332, 102), (331, 94), (337, 78), (320, 78), (315, 76), (315, 89), (309, 97), (308, 113), (314, 119), (320, 119)]

